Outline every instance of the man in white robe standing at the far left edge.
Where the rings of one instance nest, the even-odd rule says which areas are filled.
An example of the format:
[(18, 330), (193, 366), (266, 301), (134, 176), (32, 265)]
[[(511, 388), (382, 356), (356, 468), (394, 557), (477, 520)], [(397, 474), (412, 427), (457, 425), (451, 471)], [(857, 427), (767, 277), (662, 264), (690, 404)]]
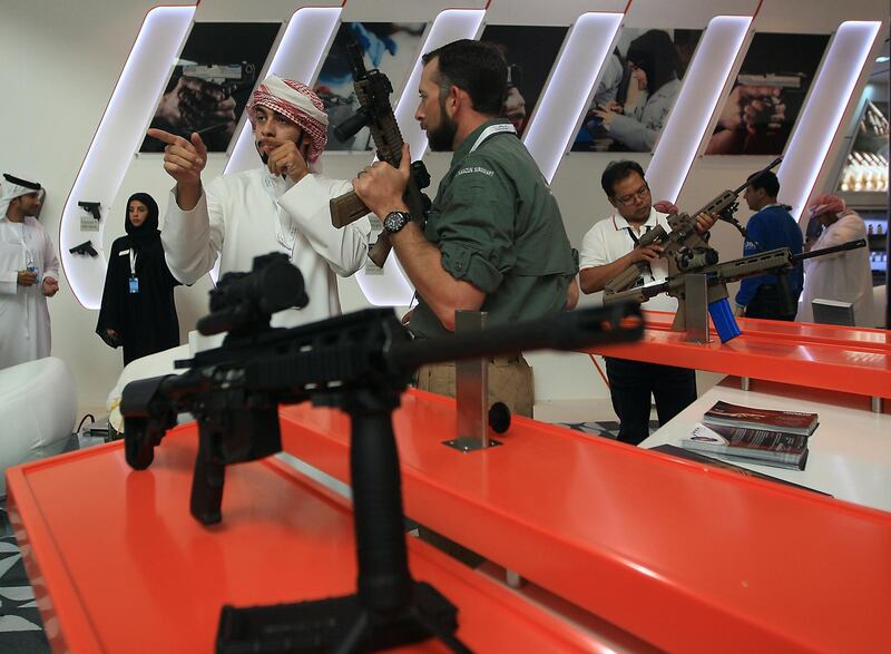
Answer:
[(47, 297), (59, 290), (59, 260), (35, 214), (40, 184), (3, 175), (0, 185), (0, 369), (49, 357)]

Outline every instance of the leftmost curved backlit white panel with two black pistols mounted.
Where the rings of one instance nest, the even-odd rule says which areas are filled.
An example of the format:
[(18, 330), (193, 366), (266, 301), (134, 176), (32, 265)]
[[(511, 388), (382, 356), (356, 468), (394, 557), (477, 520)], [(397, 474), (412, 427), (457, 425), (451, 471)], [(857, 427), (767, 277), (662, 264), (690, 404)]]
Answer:
[[(87, 309), (98, 309), (102, 299), (106, 258), (101, 251), (101, 230), (107, 223), (107, 207), (117, 195), (133, 154), (145, 136), (194, 14), (195, 7), (157, 7), (146, 14), (65, 203), (59, 224), (62, 269), (75, 297)], [(101, 203), (99, 232), (81, 232), (80, 218), (88, 214), (77, 203), (84, 201)], [(92, 241), (99, 256), (68, 252), (87, 240)]]

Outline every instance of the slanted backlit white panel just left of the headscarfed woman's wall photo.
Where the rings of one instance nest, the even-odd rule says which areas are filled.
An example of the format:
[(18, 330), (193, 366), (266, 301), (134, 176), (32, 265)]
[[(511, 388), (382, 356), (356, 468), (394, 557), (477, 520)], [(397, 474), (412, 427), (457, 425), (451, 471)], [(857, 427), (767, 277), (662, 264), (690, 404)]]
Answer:
[(523, 138), (548, 182), (554, 178), (576, 134), (581, 111), (623, 17), (623, 13), (584, 13), (569, 31), (557, 68)]

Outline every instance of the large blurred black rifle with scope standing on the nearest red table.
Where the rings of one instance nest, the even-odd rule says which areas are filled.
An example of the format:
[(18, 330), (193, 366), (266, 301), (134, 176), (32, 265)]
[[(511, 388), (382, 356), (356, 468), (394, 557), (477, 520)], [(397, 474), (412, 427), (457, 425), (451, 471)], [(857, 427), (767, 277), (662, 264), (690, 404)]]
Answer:
[(392, 310), (372, 309), (292, 329), (272, 313), (305, 305), (303, 279), (284, 254), (254, 260), (249, 274), (224, 275), (212, 292), (203, 334), (228, 334), (179, 375), (124, 389), (125, 455), (147, 468), (179, 412), (198, 423), (190, 510), (221, 520), (225, 467), (281, 450), (278, 404), (310, 400), (350, 414), (358, 594), (291, 605), (223, 607), (217, 652), (373, 651), (434, 636), (454, 652), (457, 609), (409, 572), (392, 412), (424, 363), (522, 350), (575, 350), (643, 335), (634, 303), (561, 313), (481, 332), (412, 340)]

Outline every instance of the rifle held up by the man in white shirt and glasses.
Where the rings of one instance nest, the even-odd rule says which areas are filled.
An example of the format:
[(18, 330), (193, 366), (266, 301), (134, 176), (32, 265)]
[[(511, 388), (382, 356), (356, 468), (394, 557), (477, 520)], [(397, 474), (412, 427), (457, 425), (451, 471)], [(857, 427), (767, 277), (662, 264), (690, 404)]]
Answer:
[[(672, 227), (670, 232), (666, 232), (662, 225), (656, 225), (655, 228), (640, 236), (637, 247), (662, 245), (662, 256), (668, 260), (669, 275), (682, 273), (689, 267), (717, 263), (717, 252), (708, 247), (708, 243), (705, 238), (696, 232), (696, 217), (699, 214), (716, 214), (718, 219), (730, 223), (740, 231), (743, 238), (747, 238), (748, 235), (746, 234), (745, 227), (743, 227), (734, 216), (736, 209), (740, 208), (737, 198), (740, 194), (745, 191), (746, 186), (748, 186), (748, 179), (776, 167), (782, 160), (783, 157), (776, 157), (767, 166), (750, 175), (741, 186), (737, 186), (733, 191), (727, 189), (719, 193), (693, 214), (672, 214), (668, 216), (668, 225)], [(649, 264), (642, 262), (625, 269), (606, 283), (604, 286), (604, 296), (630, 289), (635, 282), (640, 279), (640, 275), (646, 272), (648, 266)]]

